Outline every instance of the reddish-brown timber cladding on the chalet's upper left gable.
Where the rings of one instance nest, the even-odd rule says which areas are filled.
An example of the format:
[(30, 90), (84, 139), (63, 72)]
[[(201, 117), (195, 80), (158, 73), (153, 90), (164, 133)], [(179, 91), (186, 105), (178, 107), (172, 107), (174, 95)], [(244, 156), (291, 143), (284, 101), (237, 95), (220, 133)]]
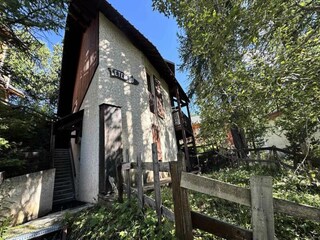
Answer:
[(78, 111), (99, 63), (99, 15), (82, 36), (80, 56), (73, 91), (72, 111)]

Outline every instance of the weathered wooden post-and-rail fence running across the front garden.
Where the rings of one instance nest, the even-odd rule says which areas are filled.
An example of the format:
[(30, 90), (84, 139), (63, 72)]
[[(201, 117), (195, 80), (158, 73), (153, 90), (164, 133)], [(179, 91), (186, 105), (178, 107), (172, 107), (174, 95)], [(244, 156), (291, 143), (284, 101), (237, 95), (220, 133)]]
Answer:
[[(165, 216), (171, 221), (175, 221), (176, 236), (178, 239), (193, 239), (192, 230), (200, 229), (227, 239), (272, 240), (275, 238), (274, 212), (320, 222), (320, 209), (273, 198), (271, 177), (254, 176), (250, 178), (250, 189), (238, 187), (207, 177), (187, 173), (181, 156), (178, 157), (177, 162), (159, 163), (155, 144), (152, 145), (152, 153), (152, 163), (142, 162), (141, 157), (138, 156), (136, 163), (126, 162), (119, 167), (119, 176), (122, 176), (122, 174), (120, 174), (121, 171), (125, 171), (125, 179), (127, 181), (123, 184), (123, 178), (120, 177), (119, 199), (123, 199), (123, 188), (121, 186), (125, 186), (128, 198), (131, 197), (132, 192), (136, 193), (141, 208), (147, 205), (156, 210), (159, 224), (162, 216)], [(136, 169), (136, 189), (130, 187), (130, 169)], [(154, 172), (155, 199), (143, 193), (143, 170)], [(160, 171), (170, 172), (171, 174), (174, 212), (161, 203)], [(188, 191), (208, 194), (251, 207), (252, 230), (244, 229), (216, 218), (191, 211)]]

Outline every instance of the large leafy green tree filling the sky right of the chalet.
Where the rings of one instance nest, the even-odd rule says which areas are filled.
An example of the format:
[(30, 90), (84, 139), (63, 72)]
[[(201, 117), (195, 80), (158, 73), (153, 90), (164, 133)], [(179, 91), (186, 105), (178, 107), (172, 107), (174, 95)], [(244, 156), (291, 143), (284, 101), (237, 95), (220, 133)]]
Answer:
[[(153, 0), (184, 30), (181, 69), (206, 136), (238, 126), (263, 132), (266, 116), (282, 112), (282, 129), (320, 115), (320, 2), (316, 0)], [(298, 126), (297, 124), (295, 125)], [(304, 128), (300, 127), (301, 131)], [(260, 131), (261, 130), (261, 131)]]

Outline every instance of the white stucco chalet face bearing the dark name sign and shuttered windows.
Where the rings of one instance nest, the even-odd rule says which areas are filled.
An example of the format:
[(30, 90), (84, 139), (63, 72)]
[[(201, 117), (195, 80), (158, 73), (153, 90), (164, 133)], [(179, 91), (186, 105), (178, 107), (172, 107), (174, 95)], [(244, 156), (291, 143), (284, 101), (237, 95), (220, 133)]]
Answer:
[[(168, 86), (141, 51), (126, 36), (100, 14), (99, 29), (99, 84), (98, 102), (120, 106), (122, 109), (122, 140), (124, 150), (129, 149), (131, 159), (141, 152), (144, 161), (152, 161), (152, 124), (160, 128), (162, 157), (174, 160), (177, 154), (175, 133), (171, 115)], [(133, 75), (139, 85), (110, 78), (108, 67)], [(155, 75), (162, 86), (165, 119), (149, 110), (146, 72)], [(125, 152), (125, 151), (124, 151)]]

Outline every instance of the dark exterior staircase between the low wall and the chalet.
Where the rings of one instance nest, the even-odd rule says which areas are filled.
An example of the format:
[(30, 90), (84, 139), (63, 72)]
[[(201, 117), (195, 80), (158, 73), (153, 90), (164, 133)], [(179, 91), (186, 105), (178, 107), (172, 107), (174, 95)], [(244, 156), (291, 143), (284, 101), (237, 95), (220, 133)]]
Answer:
[(56, 169), (53, 205), (75, 200), (70, 149), (55, 149), (53, 152), (53, 165)]

